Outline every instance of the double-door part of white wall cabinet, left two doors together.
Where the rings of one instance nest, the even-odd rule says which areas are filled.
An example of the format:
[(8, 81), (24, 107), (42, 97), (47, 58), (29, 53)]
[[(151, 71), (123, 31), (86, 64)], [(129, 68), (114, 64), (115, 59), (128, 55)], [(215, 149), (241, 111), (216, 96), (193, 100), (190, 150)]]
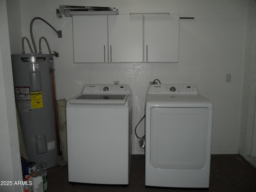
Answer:
[(74, 62), (142, 62), (143, 16), (73, 16)]

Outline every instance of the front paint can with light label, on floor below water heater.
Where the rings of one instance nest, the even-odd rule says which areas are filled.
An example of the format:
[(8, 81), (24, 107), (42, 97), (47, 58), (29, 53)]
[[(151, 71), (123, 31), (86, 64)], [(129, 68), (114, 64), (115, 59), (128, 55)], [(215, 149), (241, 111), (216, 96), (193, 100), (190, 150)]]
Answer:
[(35, 170), (30, 175), (33, 192), (46, 192), (48, 188), (46, 170)]

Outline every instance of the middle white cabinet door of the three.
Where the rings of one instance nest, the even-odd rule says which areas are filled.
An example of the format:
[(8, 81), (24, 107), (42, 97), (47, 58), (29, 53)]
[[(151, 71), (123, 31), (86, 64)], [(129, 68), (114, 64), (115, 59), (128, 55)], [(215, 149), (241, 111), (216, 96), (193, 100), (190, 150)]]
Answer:
[(109, 62), (143, 62), (143, 16), (108, 16)]

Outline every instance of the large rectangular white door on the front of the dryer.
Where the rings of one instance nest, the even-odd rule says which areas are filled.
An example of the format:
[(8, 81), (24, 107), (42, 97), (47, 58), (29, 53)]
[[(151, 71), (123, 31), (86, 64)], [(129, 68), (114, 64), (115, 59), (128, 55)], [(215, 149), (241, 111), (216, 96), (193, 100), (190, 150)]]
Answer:
[(207, 108), (152, 108), (150, 124), (150, 157), (154, 168), (204, 168)]

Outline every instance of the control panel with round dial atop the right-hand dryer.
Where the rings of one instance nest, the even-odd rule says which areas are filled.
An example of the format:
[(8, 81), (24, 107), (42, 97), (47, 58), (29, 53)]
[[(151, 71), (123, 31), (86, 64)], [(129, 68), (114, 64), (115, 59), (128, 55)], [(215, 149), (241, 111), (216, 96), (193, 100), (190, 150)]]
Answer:
[(199, 94), (191, 84), (151, 84), (147, 94)]

